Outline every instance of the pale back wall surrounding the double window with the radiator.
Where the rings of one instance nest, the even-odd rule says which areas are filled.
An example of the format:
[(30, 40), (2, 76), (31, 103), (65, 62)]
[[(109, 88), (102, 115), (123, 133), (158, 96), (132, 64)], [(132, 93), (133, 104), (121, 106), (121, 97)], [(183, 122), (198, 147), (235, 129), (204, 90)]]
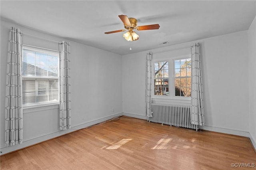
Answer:
[[(201, 128), (247, 136), (249, 132), (247, 31), (195, 42), (200, 43), (204, 83), (206, 126)], [(193, 43), (182, 43), (150, 51), (175, 49)], [(147, 52), (149, 51), (122, 56), (123, 111), (126, 115), (137, 117), (145, 115), (144, 83)]]

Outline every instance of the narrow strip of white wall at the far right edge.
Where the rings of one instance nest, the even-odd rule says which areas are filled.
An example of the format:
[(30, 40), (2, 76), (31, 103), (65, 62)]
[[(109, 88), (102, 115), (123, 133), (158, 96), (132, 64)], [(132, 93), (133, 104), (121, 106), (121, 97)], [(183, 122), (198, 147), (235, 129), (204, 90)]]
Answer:
[(256, 17), (248, 30), (248, 47), (250, 139), (256, 148)]

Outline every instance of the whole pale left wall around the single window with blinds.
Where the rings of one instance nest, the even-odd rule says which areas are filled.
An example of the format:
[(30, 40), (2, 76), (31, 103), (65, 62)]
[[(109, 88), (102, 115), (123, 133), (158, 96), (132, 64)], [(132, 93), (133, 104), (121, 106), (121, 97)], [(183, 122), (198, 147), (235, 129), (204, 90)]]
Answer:
[[(21, 145), (4, 146), (4, 101), (8, 35), (11, 26), (22, 32), (55, 41), (62, 41), (50, 34), (25, 28), (1, 20), (0, 58), (0, 147), (2, 154), (71, 132), (59, 131), (58, 105), (24, 110), (24, 142)], [(71, 123), (72, 128), (82, 128), (119, 116), (122, 113), (122, 57), (118, 54), (72, 42), (71, 67)], [(58, 50), (58, 43), (24, 35), (23, 43)]]

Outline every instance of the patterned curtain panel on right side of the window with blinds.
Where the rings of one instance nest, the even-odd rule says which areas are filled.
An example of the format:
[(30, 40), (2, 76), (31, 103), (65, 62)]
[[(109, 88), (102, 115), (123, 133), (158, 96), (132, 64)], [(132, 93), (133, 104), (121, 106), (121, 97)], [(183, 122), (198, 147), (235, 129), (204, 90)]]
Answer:
[(60, 130), (71, 126), (70, 115), (70, 43), (59, 43), (60, 51)]

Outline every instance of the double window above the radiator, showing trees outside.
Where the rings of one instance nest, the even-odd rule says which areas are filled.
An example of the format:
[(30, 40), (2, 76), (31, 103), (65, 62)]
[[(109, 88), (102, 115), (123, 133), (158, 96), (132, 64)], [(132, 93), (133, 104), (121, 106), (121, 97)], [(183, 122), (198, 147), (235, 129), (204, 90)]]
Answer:
[(190, 56), (154, 61), (153, 64), (155, 97), (191, 97)]

